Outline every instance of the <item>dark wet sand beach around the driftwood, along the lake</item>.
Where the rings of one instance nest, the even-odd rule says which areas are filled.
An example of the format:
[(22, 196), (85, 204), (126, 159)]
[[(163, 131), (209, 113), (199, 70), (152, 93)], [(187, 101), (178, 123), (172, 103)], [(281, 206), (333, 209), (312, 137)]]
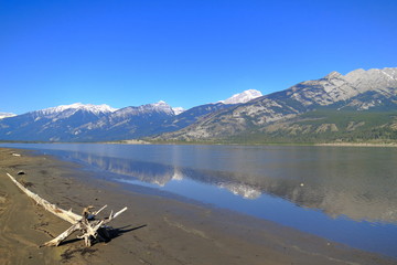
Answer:
[[(110, 223), (117, 234), (108, 243), (85, 247), (73, 234), (58, 247), (39, 247), (69, 224), (35, 205), (6, 172), (76, 213), (87, 205), (108, 204), (105, 214), (129, 209)], [(0, 264), (397, 264), (273, 222), (139, 189), (47, 156), (0, 149)]]

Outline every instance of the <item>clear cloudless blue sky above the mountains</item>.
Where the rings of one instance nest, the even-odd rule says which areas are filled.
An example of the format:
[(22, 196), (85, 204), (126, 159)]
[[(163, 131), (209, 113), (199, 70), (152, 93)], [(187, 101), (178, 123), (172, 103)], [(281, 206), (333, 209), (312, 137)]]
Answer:
[(190, 108), (396, 66), (396, 0), (0, 0), (0, 112)]

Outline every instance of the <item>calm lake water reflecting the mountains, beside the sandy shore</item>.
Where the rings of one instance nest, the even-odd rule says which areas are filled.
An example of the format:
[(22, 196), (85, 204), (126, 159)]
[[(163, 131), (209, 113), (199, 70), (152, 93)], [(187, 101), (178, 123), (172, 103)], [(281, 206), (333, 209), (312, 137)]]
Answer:
[(8, 144), (397, 257), (397, 149)]

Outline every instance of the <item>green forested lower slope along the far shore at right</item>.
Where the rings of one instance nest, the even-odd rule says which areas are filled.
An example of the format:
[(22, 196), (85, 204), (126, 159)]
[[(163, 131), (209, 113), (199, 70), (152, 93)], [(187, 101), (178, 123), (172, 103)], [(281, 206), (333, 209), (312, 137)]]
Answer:
[[(318, 109), (294, 118), (269, 123), (262, 128), (253, 124), (244, 132), (216, 139), (161, 139), (149, 142), (223, 145), (319, 145), (319, 144), (397, 144), (397, 112), (353, 112)], [(159, 138), (161, 140), (159, 140)]]

